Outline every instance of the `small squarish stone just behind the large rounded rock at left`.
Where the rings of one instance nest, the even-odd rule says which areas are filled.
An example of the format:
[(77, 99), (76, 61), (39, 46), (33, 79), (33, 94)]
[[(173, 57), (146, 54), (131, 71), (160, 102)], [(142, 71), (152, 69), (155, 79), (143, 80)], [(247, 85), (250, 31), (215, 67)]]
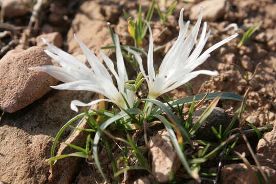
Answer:
[(41, 40), (41, 38), (45, 38), (48, 42), (50, 42), (58, 48), (62, 47), (62, 36), (59, 32), (41, 34), (36, 37), (36, 46), (42, 47), (43, 49), (47, 49), (47, 44), (45, 44), (44, 41)]

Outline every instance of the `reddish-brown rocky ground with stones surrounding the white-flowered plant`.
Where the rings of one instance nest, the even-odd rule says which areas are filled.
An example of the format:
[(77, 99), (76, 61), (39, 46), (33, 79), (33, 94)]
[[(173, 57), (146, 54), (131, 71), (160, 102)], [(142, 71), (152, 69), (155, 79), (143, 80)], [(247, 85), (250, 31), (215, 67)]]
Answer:
[[(52, 174), (49, 173), (49, 163), (45, 160), (50, 156), (51, 145), (58, 130), (76, 113), (70, 109), (71, 100), (78, 99), (90, 102), (98, 96), (89, 91), (69, 91), (51, 89), (50, 85), (58, 83), (54, 78), (41, 72), (29, 71), (27, 68), (37, 65), (56, 64), (43, 51), (47, 48), (40, 40), (47, 38), (49, 42), (69, 52), (84, 63), (85, 57), (73, 37), (77, 36), (96, 54), (100, 47), (112, 45), (112, 39), (107, 21), (119, 35), (121, 44), (133, 45), (134, 41), (128, 33), (127, 21), (122, 10), (137, 17), (139, 5), (143, 12), (150, 7), (151, 1), (45, 1), (37, 9), (37, 17), (31, 21), (32, 12), (36, 11), (32, 0), (0, 0), (0, 109), (4, 111), (0, 122), (0, 180), (4, 183), (101, 183), (103, 182), (97, 168), (84, 162), (80, 158), (65, 158), (58, 161)], [(38, 1), (39, 2), (39, 1)], [(167, 1), (171, 5), (173, 1)], [(178, 1), (172, 15), (168, 16), (165, 26), (158, 17), (157, 11), (150, 22), (153, 29), (156, 64), (174, 43), (177, 37), (178, 17), (184, 8), (184, 21), (197, 20), (200, 6), (203, 7), (204, 21), (207, 21), (212, 35), (205, 48), (234, 34), (238, 38), (223, 45), (197, 69), (217, 70), (219, 75), (209, 77), (198, 76), (190, 81), (194, 87), (194, 94), (208, 91), (228, 91), (244, 95), (248, 86), (247, 109), (244, 118), (257, 127), (267, 122), (276, 122), (276, 3), (272, 0), (204, 0), (195, 3)], [(31, 19), (32, 20), (32, 19)], [(249, 40), (240, 48), (237, 44), (245, 31), (252, 25), (263, 21)], [(238, 25), (224, 30), (231, 23)], [(143, 41), (147, 48), (147, 37)], [(43, 48), (43, 49), (41, 49)], [(114, 59), (114, 50), (104, 50)], [(261, 62), (257, 75), (247, 83), (238, 70), (252, 75), (257, 64)], [(233, 65), (233, 64), (237, 64)], [(128, 66), (129, 67), (129, 66)], [(128, 70), (131, 70), (129, 67)], [(179, 87), (167, 94), (174, 99), (193, 95), (187, 86)], [(142, 96), (142, 95), (141, 95)], [(234, 101), (221, 101), (219, 107), (227, 111), (229, 116), (240, 106)], [(85, 123), (82, 125), (85, 127)], [(276, 129), (265, 133), (263, 139), (252, 141), (256, 148), (256, 155), (263, 169), (269, 171), (271, 181), (276, 182)], [(166, 132), (153, 132), (152, 135), (165, 137)], [(153, 137), (151, 143), (160, 138)], [(168, 144), (170, 141), (164, 139)], [(62, 142), (83, 145), (86, 134), (70, 134), (68, 130), (63, 134)], [(157, 140), (157, 141), (155, 141)], [(240, 146), (241, 145), (241, 146)], [(238, 151), (248, 151), (244, 144), (240, 144)], [(167, 148), (169, 150), (169, 148)], [(71, 153), (73, 150), (61, 144), (58, 153)], [(154, 152), (154, 151), (153, 151)], [(112, 177), (110, 163), (105, 162), (107, 153), (100, 151), (103, 158), (102, 166), (108, 176)], [(116, 155), (116, 150), (114, 150)], [(248, 154), (249, 155), (249, 154)], [(154, 158), (162, 155), (153, 155)], [(171, 155), (166, 166), (176, 167), (177, 156)], [(170, 162), (171, 161), (171, 162)], [(156, 163), (153, 163), (154, 166)], [(210, 167), (211, 166), (211, 167)], [(162, 165), (154, 166), (163, 167)], [(206, 166), (205, 170), (216, 169), (217, 166)], [(253, 168), (258, 170), (257, 167)], [(165, 170), (165, 169), (164, 169)], [(178, 170), (181, 173), (181, 168)], [(160, 172), (158, 172), (160, 174)], [(250, 173), (244, 164), (225, 163), (221, 171), (221, 183), (252, 183)], [(154, 175), (158, 181), (162, 176)], [(129, 183), (151, 183), (145, 176), (146, 172), (133, 172)], [(167, 177), (167, 176), (166, 176)], [(274, 183), (271, 182), (271, 183)], [(1, 183), (1, 182), (0, 182)], [(192, 182), (189, 182), (192, 183)]]

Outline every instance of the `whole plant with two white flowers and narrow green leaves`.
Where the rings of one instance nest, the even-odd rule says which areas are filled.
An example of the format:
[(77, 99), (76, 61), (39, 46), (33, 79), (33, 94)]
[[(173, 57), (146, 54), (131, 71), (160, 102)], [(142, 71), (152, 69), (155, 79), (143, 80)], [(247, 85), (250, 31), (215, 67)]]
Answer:
[[(213, 93), (205, 96), (204, 94), (196, 95), (194, 98), (184, 98), (179, 99), (178, 101), (181, 101), (180, 104), (169, 104), (166, 106), (165, 104), (161, 103), (158, 100), (155, 100), (160, 95), (173, 90), (185, 83), (187, 83), (189, 80), (197, 77), (199, 74), (205, 74), (205, 75), (216, 75), (218, 74), (217, 71), (208, 71), (208, 70), (199, 70), (194, 71), (197, 66), (202, 64), (209, 56), (212, 51), (220, 47), (222, 44), (230, 41), (231, 39), (235, 38), (238, 34), (234, 34), (207, 49), (205, 52), (202, 52), (204, 45), (210, 35), (210, 30), (207, 32), (207, 24), (204, 22), (203, 29), (200, 35), (200, 38), (196, 44), (197, 36), (200, 29), (200, 24), (202, 20), (202, 9), (200, 10), (199, 19), (193, 28), (192, 32), (187, 35), (188, 27), (189, 27), (189, 21), (186, 22), (184, 25), (183, 22), (183, 9), (181, 9), (180, 17), (179, 17), (179, 26), (180, 26), (180, 32), (179, 36), (173, 45), (173, 47), (168, 51), (168, 53), (165, 55), (159, 70), (155, 72), (154, 70), (154, 60), (153, 60), (153, 36), (152, 36), (152, 30), (150, 28), (150, 25), (148, 22), (146, 22), (148, 26), (148, 30), (150, 32), (150, 45), (148, 49), (148, 55), (147, 55), (147, 71), (148, 75), (145, 74), (143, 65), (142, 65), (142, 58), (140, 55), (134, 51), (133, 49), (128, 48), (127, 50), (132, 53), (137, 60), (140, 68), (140, 74), (138, 74), (138, 77), (136, 81), (129, 80), (128, 74), (126, 73), (125, 65), (123, 56), (121, 53), (121, 47), (119, 43), (119, 37), (118, 35), (114, 34), (114, 42), (116, 45), (116, 58), (117, 58), (117, 72), (115, 71), (114, 64), (112, 60), (106, 56), (104, 53), (101, 53), (101, 56), (103, 58), (103, 61), (107, 65), (108, 68), (106, 68), (100, 60), (94, 55), (92, 51), (89, 50), (89, 48), (80, 41), (77, 36), (75, 35), (76, 40), (78, 41), (80, 48), (83, 52), (83, 54), (86, 56), (89, 64), (91, 65), (92, 69), (87, 67), (85, 64), (83, 64), (81, 61), (73, 57), (72, 55), (63, 52), (62, 50), (58, 49), (54, 45), (47, 42), (47, 40), (43, 39), (44, 42), (49, 46), (48, 50), (45, 50), (45, 52), (52, 57), (54, 60), (56, 60), (60, 66), (37, 66), (37, 67), (31, 67), (31, 70), (39, 70), (44, 71), (48, 73), (49, 75), (55, 77), (56, 79), (64, 82), (63, 84), (57, 85), (57, 86), (51, 86), (55, 89), (69, 89), (69, 90), (88, 90), (88, 91), (94, 91), (95, 93), (104, 95), (107, 99), (99, 99), (92, 101), (90, 103), (83, 103), (78, 100), (73, 100), (71, 102), (71, 109), (78, 111), (77, 106), (92, 106), (93, 104), (99, 103), (101, 101), (108, 101), (116, 104), (122, 111), (117, 113), (116, 110), (114, 111), (108, 111), (108, 110), (92, 110), (93, 112), (88, 112), (86, 108), (84, 108), (84, 113), (81, 113), (76, 117), (72, 118), (69, 122), (67, 122), (58, 132), (57, 136), (55, 137), (52, 150), (51, 150), (51, 158), (49, 159), (51, 161), (50, 170), (53, 167), (53, 160), (60, 159), (67, 156), (80, 156), (87, 158), (89, 160), (94, 159), (99, 172), (101, 173), (102, 177), (108, 181), (107, 177), (105, 176), (103, 170), (101, 169), (100, 163), (99, 163), (99, 157), (98, 157), (98, 150), (97, 145), (100, 141), (100, 137), (103, 137), (103, 144), (105, 148), (107, 148), (107, 151), (109, 153), (109, 159), (112, 163), (112, 169), (114, 172), (114, 180), (115, 183), (118, 183), (118, 175), (121, 173), (126, 172), (129, 169), (145, 169), (148, 172), (151, 172), (150, 164), (148, 164), (147, 159), (142, 154), (143, 151), (145, 151), (146, 147), (141, 147), (136, 145), (136, 143), (132, 140), (131, 136), (128, 134), (126, 137), (128, 138), (128, 141), (115, 137), (116, 140), (122, 141), (124, 144), (128, 146), (124, 146), (123, 154), (124, 158), (117, 161), (124, 162), (125, 167), (124, 169), (121, 169), (118, 171), (119, 168), (117, 168), (115, 159), (112, 155), (112, 151), (110, 149), (108, 141), (104, 138), (105, 135), (108, 135), (110, 137), (113, 137), (108, 130), (105, 130), (108, 128), (109, 125), (113, 124), (115, 122), (115, 128), (123, 129), (123, 130), (134, 130), (134, 129), (140, 129), (144, 131), (144, 142), (147, 142), (146, 137), (146, 123), (154, 123), (150, 122), (153, 119), (159, 119), (169, 132), (169, 136), (171, 137), (172, 143), (174, 145), (174, 148), (181, 160), (182, 165), (185, 167), (187, 173), (192, 176), (193, 178), (199, 180), (198, 172), (200, 170), (200, 163), (193, 164), (195, 161), (197, 162), (205, 162), (206, 159), (214, 155), (219, 149), (221, 149), (227, 142), (223, 141), (221, 138), (221, 144), (218, 148), (214, 149), (211, 152), (208, 152), (206, 155), (205, 153), (208, 151), (208, 147), (210, 145), (207, 144), (207, 146), (204, 148), (204, 151), (199, 154), (198, 160), (195, 158), (192, 160), (192, 162), (187, 162), (187, 155), (185, 155), (185, 146), (186, 145), (192, 145), (191, 136), (195, 134), (195, 132), (198, 130), (198, 128), (202, 125), (202, 123), (207, 118), (208, 114), (211, 113), (211, 111), (215, 108), (216, 104), (218, 103), (219, 99), (231, 99), (231, 100), (237, 100), (237, 101), (243, 101), (242, 97), (236, 94), (230, 94), (230, 93)], [(195, 47), (195, 48), (194, 48)], [(194, 49), (194, 50), (193, 50)], [(192, 52), (193, 50), (193, 52)], [(112, 73), (116, 80), (116, 85), (113, 82), (113, 79), (111, 77)], [(143, 81), (141, 79), (142, 75), (144, 76), (144, 79), (146, 80), (147, 86), (148, 86), (148, 98), (149, 99), (143, 99), (141, 101), (145, 101), (146, 105), (144, 105), (143, 111), (137, 108), (138, 104), (141, 101), (136, 101), (136, 87), (140, 85), (140, 81)], [(138, 82), (139, 81), (139, 82)], [(135, 83), (135, 90), (132, 90), (132, 88), (126, 87), (130, 85), (130, 83)], [(127, 84), (127, 85), (126, 85)], [(205, 97), (204, 97), (205, 96)], [(197, 97), (197, 98), (196, 98)], [(194, 99), (194, 100), (193, 100)], [(214, 100), (215, 99), (215, 100)], [(192, 120), (193, 115), (193, 108), (195, 102), (204, 100), (214, 100), (206, 111), (204, 111), (203, 116), (199, 118), (199, 120), (196, 122), (194, 126), (190, 125), (190, 122)], [(175, 101), (177, 102), (177, 101)], [(174, 102), (174, 103), (175, 103)], [(184, 123), (182, 122), (183, 117), (178, 119), (175, 113), (172, 112), (171, 109), (173, 109), (173, 105), (179, 105), (183, 107), (185, 103), (192, 103), (190, 112), (189, 112), (189, 118)], [(173, 104), (173, 105), (172, 105)], [(153, 108), (152, 106), (155, 105), (156, 108)], [(147, 108), (148, 107), (148, 108)], [(161, 110), (158, 110), (160, 108)], [(147, 109), (147, 110), (146, 110)], [(108, 112), (107, 112), (108, 111)], [(107, 112), (107, 113), (104, 113)], [(153, 113), (151, 113), (153, 112)], [(171, 122), (169, 122), (162, 112), (165, 112)], [(179, 117), (182, 116), (182, 109), (178, 110)], [(94, 115), (100, 115), (105, 116), (104, 122), (96, 122), (93, 118)], [(83, 149), (81, 147), (68, 144), (68, 146), (73, 147), (74, 149), (79, 150), (80, 152), (72, 153), (68, 155), (60, 155), (54, 156), (55, 153), (55, 147), (58, 142), (58, 139), (61, 135), (61, 133), (76, 119), (80, 117), (88, 117), (89, 125), (92, 129), (79, 129), (75, 128), (77, 130), (81, 131), (96, 131), (94, 140), (90, 137), (89, 134), (87, 138), (87, 144), (86, 149)], [(147, 122), (149, 121), (149, 122)], [(233, 120), (233, 123), (235, 123), (236, 119)], [(182, 123), (181, 123), (182, 122)], [(223, 132), (223, 136), (219, 137), (226, 137), (228, 135), (229, 130), (231, 129), (233, 123), (229, 125), (229, 128), (227, 131)], [(96, 126), (94, 126), (96, 125)], [(135, 126), (133, 126), (135, 125)], [(138, 126), (137, 126), (138, 125)], [(144, 126), (142, 126), (144, 125)], [(188, 125), (188, 126), (186, 126)], [(123, 127), (123, 128), (122, 128)], [(74, 127), (73, 127), (74, 128)], [(129, 132), (129, 131), (128, 131)], [(175, 132), (177, 135), (175, 135)], [(222, 133), (219, 131), (220, 134)], [(183, 139), (181, 137), (184, 137), (185, 142), (188, 142), (189, 144), (183, 144)], [(113, 139), (112, 138), (112, 139)], [(228, 143), (228, 142), (227, 142)], [(146, 144), (145, 144), (146, 145)], [(206, 144), (205, 144), (206, 145)], [(129, 149), (132, 149), (129, 153), (131, 155), (134, 155), (138, 162), (139, 166), (130, 166), (128, 162), (128, 151)], [(94, 155), (94, 158), (91, 157), (91, 155)], [(123, 161), (122, 161), (123, 160)], [(118, 163), (117, 163), (118, 164)], [(118, 165), (119, 167), (119, 165)]]

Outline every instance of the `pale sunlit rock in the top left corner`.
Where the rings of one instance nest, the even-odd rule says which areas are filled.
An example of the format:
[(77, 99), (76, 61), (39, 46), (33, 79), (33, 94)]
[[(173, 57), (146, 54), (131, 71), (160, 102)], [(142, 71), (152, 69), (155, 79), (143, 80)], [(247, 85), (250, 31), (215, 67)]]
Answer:
[(27, 7), (32, 4), (32, 0), (0, 0), (5, 17), (17, 17), (29, 13), (31, 9)]

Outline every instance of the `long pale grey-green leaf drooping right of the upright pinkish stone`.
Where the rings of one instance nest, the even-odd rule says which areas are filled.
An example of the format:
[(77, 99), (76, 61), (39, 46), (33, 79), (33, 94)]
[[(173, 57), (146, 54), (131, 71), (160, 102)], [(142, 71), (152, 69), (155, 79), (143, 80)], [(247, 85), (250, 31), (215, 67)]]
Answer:
[(166, 128), (166, 130), (168, 131), (169, 133), (169, 136), (171, 137), (171, 140), (172, 140), (172, 143), (174, 145), (174, 148), (176, 150), (176, 153), (182, 163), (182, 165), (184, 166), (184, 168), (186, 169), (187, 173), (192, 176), (194, 179), (198, 180), (199, 179), (199, 176), (197, 174), (192, 174), (192, 170), (190, 169), (189, 165), (188, 165), (188, 162), (187, 162), (187, 159), (186, 159), (186, 156), (183, 154), (179, 144), (178, 144), (178, 140), (177, 140), (177, 137), (174, 133), (174, 130), (171, 126), (169, 126), (167, 124), (167, 120), (161, 116), (161, 115), (155, 115), (156, 118), (158, 118), (161, 122), (164, 123), (164, 126)]

